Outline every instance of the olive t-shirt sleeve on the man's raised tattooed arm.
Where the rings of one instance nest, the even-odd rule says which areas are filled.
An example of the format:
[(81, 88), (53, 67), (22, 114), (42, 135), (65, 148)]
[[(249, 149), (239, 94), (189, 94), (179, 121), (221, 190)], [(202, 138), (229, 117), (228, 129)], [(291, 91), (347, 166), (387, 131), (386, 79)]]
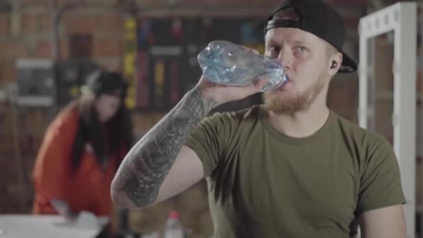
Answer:
[(200, 122), (185, 145), (202, 161), (205, 177), (212, 174), (234, 134), (235, 122), (230, 113), (215, 113)]

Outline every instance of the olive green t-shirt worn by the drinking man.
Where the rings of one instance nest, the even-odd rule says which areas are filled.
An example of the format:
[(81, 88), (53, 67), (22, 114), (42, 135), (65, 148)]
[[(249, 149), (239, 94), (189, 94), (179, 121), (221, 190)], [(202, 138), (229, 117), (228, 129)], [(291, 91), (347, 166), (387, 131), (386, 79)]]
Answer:
[(292, 138), (266, 116), (216, 113), (186, 142), (204, 166), (215, 238), (346, 238), (358, 214), (405, 202), (382, 136), (331, 111), (318, 132)]

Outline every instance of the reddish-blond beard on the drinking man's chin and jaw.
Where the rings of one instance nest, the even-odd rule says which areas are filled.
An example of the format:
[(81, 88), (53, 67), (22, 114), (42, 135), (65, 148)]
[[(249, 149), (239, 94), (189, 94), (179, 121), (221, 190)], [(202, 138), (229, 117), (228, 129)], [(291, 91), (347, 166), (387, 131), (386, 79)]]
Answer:
[(305, 90), (301, 95), (294, 95), (291, 97), (279, 97), (278, 95), (266, 92), (263, 94), (263, 100), (266, 108), (274, 113), (296, 113), (308, 109), (317, 95), (323, 90), (324, 77), (319, 77), (319, 80)]

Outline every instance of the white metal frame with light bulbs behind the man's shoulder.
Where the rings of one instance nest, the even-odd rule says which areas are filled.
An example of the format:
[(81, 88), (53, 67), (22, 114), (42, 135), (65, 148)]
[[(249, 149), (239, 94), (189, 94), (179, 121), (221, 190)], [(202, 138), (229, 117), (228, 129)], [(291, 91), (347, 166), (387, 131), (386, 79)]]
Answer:
[[(374, 115), (369, 108), (367, 95), (369, 68), (368, 40), (394, 31), (394, 152), (401, 170), (401, 180), (406, 196), (407, 237), (415, 237), (415, 123), (416, 123), (416, 58), (417, 58), (417, 4), (401, 2), (362, 17), (360, 33), (359, 108), (361, 127), (367, 128), (369, 117)], [(374, 60), (377, 60), (375, 58)], [(371, 79), (370, 79), (371, 80)]]

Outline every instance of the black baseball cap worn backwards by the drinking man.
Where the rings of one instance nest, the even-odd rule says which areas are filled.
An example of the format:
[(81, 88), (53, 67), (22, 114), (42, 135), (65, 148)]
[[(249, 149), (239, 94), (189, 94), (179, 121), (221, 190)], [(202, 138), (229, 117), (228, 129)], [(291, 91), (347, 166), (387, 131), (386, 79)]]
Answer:
[[(299, 16), (295, 19), (273, 19), (280, 10), (294, 8)], [(298, 28), (316, 35), (333, 45), (343, 55), (339, 72), (355, 72), (357, 63), (342, 50), (345, 40), (344, 19), (332, 7), (321, 0), (285, 0), (273, 10), (264, 26), (264, 33), (269, 29), (289, 27)]]

